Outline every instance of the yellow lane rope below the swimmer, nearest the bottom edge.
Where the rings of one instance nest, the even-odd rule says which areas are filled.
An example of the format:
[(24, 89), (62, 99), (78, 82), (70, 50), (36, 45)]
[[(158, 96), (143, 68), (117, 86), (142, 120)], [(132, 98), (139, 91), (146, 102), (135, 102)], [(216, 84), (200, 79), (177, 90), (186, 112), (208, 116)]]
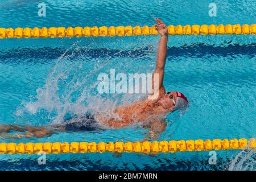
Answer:
[(171, 140), (160, 142), (46, 142), (46, 143), (0, 143), (0, 154), (67, 154), (67, 153), (104, 153), (104, 152), (135, 152), (156, 154), (159, 152), (211, 151), (211, 150), (240, 150), (255, 149), (256, 140), (242, 139), (213, 139), (213, 140)]

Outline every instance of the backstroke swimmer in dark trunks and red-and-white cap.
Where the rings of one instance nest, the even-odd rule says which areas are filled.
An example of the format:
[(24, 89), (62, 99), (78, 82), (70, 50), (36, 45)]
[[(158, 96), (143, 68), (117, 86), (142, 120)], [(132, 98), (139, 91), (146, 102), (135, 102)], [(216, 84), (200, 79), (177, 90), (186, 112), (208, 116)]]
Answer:
[[(155, 19), (155, 30), (160, 35), (158, 47), (158, 56), (156, 59), (156, 67), (154, 73), (158, 74), (159, 84), (157, 88), (158, 97), (150, 100), (148, 97), (140, 101), (135, 101), (131, 104), (120, 105), (114, 109), (114, 114), (117, 117), (106, 119), (105, 115), (100, 113), (90, 115), (86, 114), (82, 118), (71, 118), (63, 125), (48, 125), (48, 126), (0, 126), (0, 133), (6, 135), (10, 131), (26, 132), (25, 134), (13, 134), (11, 137), (46, 137), (55, 132), (61, 131), (77, 131), (77, 130), (97, 130), (102, 126), (106, 128), (119, 129), (132, 125), (133, 123), (141, 123), (143, 127), (150, 129), (149, 136), (151, 139), (156, 139), (166, 129), (166, 115), (180, 109), (186, 109), (189, 105), (188, 99), (181, 92), (167, 92), (163, 85), (164, 67), (167, 57), (167, 42), (168, 30), (166, 24), (160, 19)], [(154, 75), (152, 76), (152, 85), (154, 85)], [(120, 121), (120, 118), (121, 121)]]

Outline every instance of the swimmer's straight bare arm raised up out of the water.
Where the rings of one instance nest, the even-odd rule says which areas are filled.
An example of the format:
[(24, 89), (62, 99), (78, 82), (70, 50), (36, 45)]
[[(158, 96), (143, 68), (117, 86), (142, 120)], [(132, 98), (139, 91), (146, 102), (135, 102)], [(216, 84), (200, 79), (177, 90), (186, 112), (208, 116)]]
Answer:
[[(166, 65), (166, 57), (167, 57), (167, 42), (168, 42), (168, 30), (166, 27), (166, 24), (162, 22), (159, 18), (155, 19), (157, 25), (155, 25), (155, 30), (158, 31), (160, 35), (160, 42), (158, 46), (158, 56), (156, 59), (156, 67), (155, 72), (158, 73), (159, 76), (159, 96), (163, 93), (165, 93), (165, 89), (163, 86), (163, 78), (164, 78), (164, 67)], [(154, 75), (152, 77), (152, 83), (154, 83)], [(152, 84), (154, 85), (154, 84)], [(154, 88), (155, 90), (156, 88)]]

